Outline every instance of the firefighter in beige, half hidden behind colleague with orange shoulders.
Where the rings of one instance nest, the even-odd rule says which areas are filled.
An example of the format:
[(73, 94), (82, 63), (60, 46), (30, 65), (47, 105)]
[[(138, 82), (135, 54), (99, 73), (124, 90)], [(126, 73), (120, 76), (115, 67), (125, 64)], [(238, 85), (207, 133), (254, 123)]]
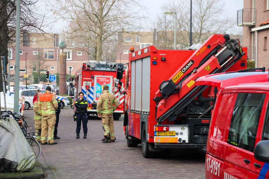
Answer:
[(38, 135), (36, 136), (36, 140), (40, 143), (40, 135), (41, 135), (41, 111), (38, 110), (37, 103), (38, 103), (38, 98), (40, 95), (42, 95), (42, 92), (37, 93), (37, 99), (34, 101), (33, 107), (34, 107), (34, 124), (35, 124), (35, 129)]

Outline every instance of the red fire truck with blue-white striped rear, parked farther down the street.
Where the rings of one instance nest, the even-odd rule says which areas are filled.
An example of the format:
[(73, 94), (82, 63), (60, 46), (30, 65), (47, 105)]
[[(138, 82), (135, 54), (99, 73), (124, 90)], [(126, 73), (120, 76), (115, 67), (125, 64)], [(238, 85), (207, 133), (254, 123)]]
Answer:
[[(119, 120), (124, 113), (123, 101), (124, 95), (119, 93), (119, 88), (114, 88), (116, 79), (116, 69), (122, 64), (107, 62), (88, 62), (77, 70), (75, 74), (75, 99), (78, 98), (79, 92), (84, 93), (84, 99), (88, 101), (87, 111), (89, 114), (97, 114), (96, 105), (99, 96), (102, 93), (104, 85), (109, 86), (109, 92), (113, 93), (119, 101), (118, 108), (114, 111), (114, 120)], [(123, 79), (125, 74), (123, 73)], [(120, 88), (124, 90), (124, 88)], [(74, 111), (76, 111), (74, 107)]]

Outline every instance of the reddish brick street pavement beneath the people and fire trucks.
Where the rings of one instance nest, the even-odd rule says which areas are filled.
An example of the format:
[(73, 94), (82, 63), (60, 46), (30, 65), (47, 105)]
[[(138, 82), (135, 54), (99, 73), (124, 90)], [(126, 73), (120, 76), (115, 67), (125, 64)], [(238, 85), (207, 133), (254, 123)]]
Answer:
[[(24, 111), (28, 131), (34, 130), (33, 110)], [(143, 158), (141, 146), (129, 148), (123, 121), (114, 122), (116, 142), (103, 144), (101, 120), (91, 116), (88, 138), (76, 139), (70, 108), (61, 110), (57, 145), (41, 146), (38, 160), (46, 178), (205, 178), (205, 151), (179, 150), (166, 158)], [(32, 128), (32, 129), (31, 129)], [(81, 129), (82, 131), (82, 129)]]

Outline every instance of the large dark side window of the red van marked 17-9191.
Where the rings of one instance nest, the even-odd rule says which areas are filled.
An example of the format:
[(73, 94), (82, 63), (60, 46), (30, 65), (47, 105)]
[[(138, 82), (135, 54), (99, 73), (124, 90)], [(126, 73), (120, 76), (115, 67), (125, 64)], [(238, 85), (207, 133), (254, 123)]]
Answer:
[(238, 93), (227, 143), (253, 152), (265, 94)]

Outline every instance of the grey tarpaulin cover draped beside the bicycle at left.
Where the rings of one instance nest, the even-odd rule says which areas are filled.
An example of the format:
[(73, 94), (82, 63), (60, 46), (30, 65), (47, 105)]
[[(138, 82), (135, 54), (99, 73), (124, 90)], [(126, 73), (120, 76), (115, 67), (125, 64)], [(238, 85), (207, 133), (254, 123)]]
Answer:
[(35, 158), (18, 123), (12, 118), (0, 119), (0, 172), (31, 171)]

